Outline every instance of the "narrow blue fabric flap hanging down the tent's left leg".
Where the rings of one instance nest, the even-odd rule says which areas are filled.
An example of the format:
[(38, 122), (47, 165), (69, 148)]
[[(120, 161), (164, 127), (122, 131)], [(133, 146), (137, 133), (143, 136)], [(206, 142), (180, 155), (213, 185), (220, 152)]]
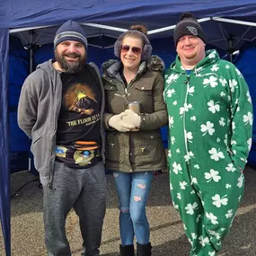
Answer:
[(0, 30), (0, 217), (6, 256), (11, 255), (8, 127), (8, 30)]

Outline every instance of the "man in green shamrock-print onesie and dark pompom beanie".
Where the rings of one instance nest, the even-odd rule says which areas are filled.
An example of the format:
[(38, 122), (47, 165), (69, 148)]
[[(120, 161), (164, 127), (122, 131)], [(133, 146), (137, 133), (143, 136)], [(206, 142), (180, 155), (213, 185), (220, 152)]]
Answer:
[(178, 56), (165, 73), (170, 189), (191, 256), (214, 256), (243, 196), (252, 145), (252, 99), (240, 71), (205, 50), (190, 13), (174, 30)]

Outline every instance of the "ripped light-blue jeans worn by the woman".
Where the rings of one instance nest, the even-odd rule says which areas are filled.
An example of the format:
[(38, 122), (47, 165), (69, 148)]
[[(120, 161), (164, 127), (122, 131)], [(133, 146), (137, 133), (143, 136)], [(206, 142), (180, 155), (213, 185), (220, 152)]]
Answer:
[(154, 172), (113, 172), (119, 197), (119, 229), (122, 245), (149, 243), (146, 201)]

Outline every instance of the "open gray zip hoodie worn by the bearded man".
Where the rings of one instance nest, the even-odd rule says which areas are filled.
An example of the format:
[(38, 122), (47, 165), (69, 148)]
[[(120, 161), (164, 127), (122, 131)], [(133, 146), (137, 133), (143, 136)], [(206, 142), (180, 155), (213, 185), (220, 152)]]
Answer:
[[(102, 88), (101, 123), (105, 106), (104, 90), (100, 72), (93, 63), (88, 65), (97, 73)], [(37, 66), (22, 85), (18, 105), (18, 125), (31, 137), (31, 153), (35, 167), (40, 172), (40, 181), (51, 187), (55, 163), (57, 119), (62, 101), (61, 72), (52, 66), (52, 59)], [(105, 138), (103, 126), (102, 159), (104, 162)]]

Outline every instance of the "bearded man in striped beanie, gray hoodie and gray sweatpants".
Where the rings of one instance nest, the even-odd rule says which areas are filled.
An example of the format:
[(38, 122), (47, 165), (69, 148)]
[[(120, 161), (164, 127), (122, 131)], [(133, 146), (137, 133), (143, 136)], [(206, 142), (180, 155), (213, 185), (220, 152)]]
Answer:
[(86, 64), (82, 27), (65, 22), (54, 39), (55, 58), (22, 86), (18, 124), (31, 137), (31, 152), (44, 194), (49, 256), (71, 255), (66, 216), (79, 216), (85, 256), (98, 256), (106, 210), (104, 90), (99, 70)]

